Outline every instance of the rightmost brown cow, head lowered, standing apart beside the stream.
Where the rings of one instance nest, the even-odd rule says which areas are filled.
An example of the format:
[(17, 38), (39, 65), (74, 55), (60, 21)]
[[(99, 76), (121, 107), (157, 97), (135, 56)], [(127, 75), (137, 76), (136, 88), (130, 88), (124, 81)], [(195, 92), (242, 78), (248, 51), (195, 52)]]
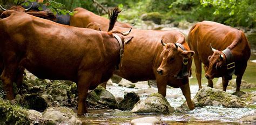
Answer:
[(199, 22), (190, 30), (188, 44), (191, 50), (196, 52), (194, 64), (199, 89), (202, 88), (201, 63), (203, 63), (208, 86), (213, 87), (213, 78), (222, 77), (223, 91), (226, 91), (228, 80), (231, 80), (232, 75), (235, 74), (237, 75), (236, 91), (240, 91), (242, 75), (251, 55), (250, 45), (242, 31), (215, 22)]

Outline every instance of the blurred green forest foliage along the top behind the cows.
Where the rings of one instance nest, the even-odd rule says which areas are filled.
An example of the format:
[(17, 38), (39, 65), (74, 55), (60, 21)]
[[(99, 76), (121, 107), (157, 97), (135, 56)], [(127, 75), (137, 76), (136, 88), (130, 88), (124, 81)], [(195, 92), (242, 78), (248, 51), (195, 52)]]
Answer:
[[(22, 2), (24, 0), (1, 0), (0, 4), (26, 4)], [(53, 11), (64, 14), (68, 12), (66, 10), (82, 7), (104, 15), (104, 9), (118, 6), (123, 10), (118, 20), (131, 24), (140, 21), (144, 13), (149, 13), (161, 18), (160, 24), (211, 20), (230, 26), (256, 27), (256, 0), (44, 0), (45, 3), (49, 3), (48, 7)]]

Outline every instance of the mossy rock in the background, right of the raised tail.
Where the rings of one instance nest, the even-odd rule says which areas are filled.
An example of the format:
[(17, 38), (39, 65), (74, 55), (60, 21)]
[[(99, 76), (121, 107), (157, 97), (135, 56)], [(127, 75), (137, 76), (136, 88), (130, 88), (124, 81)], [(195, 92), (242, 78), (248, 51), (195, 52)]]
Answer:
[(161, 24), (161, 15), (159, 12), (144, 13), (141, 18), (144, 21), (151, 20), (155, 24)]

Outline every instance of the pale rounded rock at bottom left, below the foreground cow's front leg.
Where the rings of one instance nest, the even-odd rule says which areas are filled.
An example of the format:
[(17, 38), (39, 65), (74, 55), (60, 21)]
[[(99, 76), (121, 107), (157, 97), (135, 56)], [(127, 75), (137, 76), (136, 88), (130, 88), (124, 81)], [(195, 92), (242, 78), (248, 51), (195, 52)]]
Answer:
[(43, 119), (55, 124), (82, 124), (77, 114), (67, 107), (49, 107), (43, 112)]

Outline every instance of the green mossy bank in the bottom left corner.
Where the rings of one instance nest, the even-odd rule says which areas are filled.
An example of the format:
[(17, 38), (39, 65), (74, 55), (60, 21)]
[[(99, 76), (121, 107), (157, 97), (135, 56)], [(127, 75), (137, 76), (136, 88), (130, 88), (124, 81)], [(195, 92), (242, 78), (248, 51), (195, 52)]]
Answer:
[(0, 121), (6, 124), (30, 124), (28, 110), (0, 98)]

